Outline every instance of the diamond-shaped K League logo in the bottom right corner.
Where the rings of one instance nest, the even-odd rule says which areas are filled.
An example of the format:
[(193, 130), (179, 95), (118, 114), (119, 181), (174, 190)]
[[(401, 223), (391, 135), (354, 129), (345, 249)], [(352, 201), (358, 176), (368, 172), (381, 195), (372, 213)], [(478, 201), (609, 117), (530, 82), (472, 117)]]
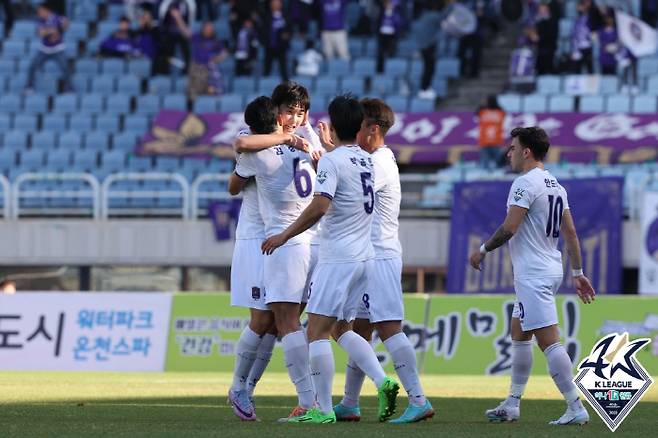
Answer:
[(578, 366), (574, 383), (599, 417), (614, 432), (633, 410), (653, 380), (635, 354), (650, 339), (628, 341), (628, 333), (601, 339)]

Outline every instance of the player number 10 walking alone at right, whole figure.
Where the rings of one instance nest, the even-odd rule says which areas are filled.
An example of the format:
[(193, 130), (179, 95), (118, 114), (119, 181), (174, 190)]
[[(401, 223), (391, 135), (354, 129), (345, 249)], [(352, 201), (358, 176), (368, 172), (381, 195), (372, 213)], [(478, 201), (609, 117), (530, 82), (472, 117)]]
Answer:
[(567, 410), (550, 424), (585, 424), (589, 414), (573, 383), (569, 355), (560, 343), (555, 293), (562, 283), (562, 257), (557, 249), (560, 233), (571, 260), (576, 293), (585, 303), (594, 300), (594, 289), (583, 274), (580, 244), (569, 209), (567, 192), (544, 169), (550, 146), (538, 127), (515, 128), (507, 153), (512, 170), (521, 173), (510, 188), (507, 216), (489, 240), (470, 256), (474, 269), (482, 270), (485, 255), (509, 241), (514, 268), (516, 303), (512, 313), (512, 382), (505, 401), (485, 415), (491, 421), (520, 417), (521, 396), (532, 369), (532, 337), (548, 362), (548, 370), (567, 402)]

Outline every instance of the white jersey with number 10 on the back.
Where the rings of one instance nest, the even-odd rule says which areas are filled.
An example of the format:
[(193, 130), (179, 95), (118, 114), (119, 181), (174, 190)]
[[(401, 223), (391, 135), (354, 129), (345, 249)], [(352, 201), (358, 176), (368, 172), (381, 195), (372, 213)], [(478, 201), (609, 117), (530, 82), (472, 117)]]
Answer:
[(550, 172), (534, 168), (512, 183), (507, 208), (512, 205), (528, 209), (509, 241), (514, 278), (561, 277), (557, 243), (562, 213), (569, 208), (567, 192)]

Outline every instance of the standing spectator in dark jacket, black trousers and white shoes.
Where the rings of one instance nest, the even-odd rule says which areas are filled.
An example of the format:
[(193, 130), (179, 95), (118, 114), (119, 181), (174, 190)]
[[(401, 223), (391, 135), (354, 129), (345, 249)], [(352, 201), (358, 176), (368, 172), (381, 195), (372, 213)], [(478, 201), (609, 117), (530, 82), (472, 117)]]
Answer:
[[(448, 0), (448, 3), (452, 1), (454, 0)], [(433, 100), (436, 98), (436, 92), (432, 88), (432, 78), (434, 77), (434, 64), (436, 62), (438, 32), (441, 29), (441, 21), (443, 20), (443, 14), (439, 9), (438, 2), (429, 3), (426, 11), (414, 25), (414, 40), (423, 57), (423, 76), (420, 81), (420, 91), (418, 92), (418, 97), (422, 99)]]

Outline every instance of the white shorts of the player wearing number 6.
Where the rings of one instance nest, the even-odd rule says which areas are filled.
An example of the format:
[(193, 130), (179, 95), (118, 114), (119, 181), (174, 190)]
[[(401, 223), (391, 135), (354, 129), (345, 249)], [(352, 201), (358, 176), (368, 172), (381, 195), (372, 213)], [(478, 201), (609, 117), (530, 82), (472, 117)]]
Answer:
[(272, 255), (265, 256), (265, 302), (301, 303), (306, 295), (310, 264), (309, 244), (282, 246)]

